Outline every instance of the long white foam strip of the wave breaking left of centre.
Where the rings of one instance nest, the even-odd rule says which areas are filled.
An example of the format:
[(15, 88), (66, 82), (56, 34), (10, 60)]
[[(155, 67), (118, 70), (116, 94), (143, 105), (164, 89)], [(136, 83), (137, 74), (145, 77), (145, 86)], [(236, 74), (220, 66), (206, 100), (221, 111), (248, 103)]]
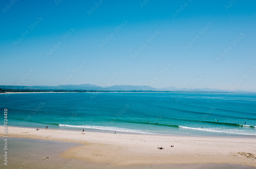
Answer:
[(110, 127), (110, 126), (89, 126), (89, 125), (66, 125), (66, 124), (59, 124), (59, 126), (66, 126), (66, 127), (77, 127), (77, 128), (89, 128), (89, 129), (98, 129), (98, 130), (109, 130), (109, 131), (118, 131), (118, 132), (131, 132), (131, 133), (143, 133), (143, 134), (153, 134), (150, 131), (145, 132), (143, 130), (138, 129), (129, 129), (129, 128), (122, 128), (122, 127)]

